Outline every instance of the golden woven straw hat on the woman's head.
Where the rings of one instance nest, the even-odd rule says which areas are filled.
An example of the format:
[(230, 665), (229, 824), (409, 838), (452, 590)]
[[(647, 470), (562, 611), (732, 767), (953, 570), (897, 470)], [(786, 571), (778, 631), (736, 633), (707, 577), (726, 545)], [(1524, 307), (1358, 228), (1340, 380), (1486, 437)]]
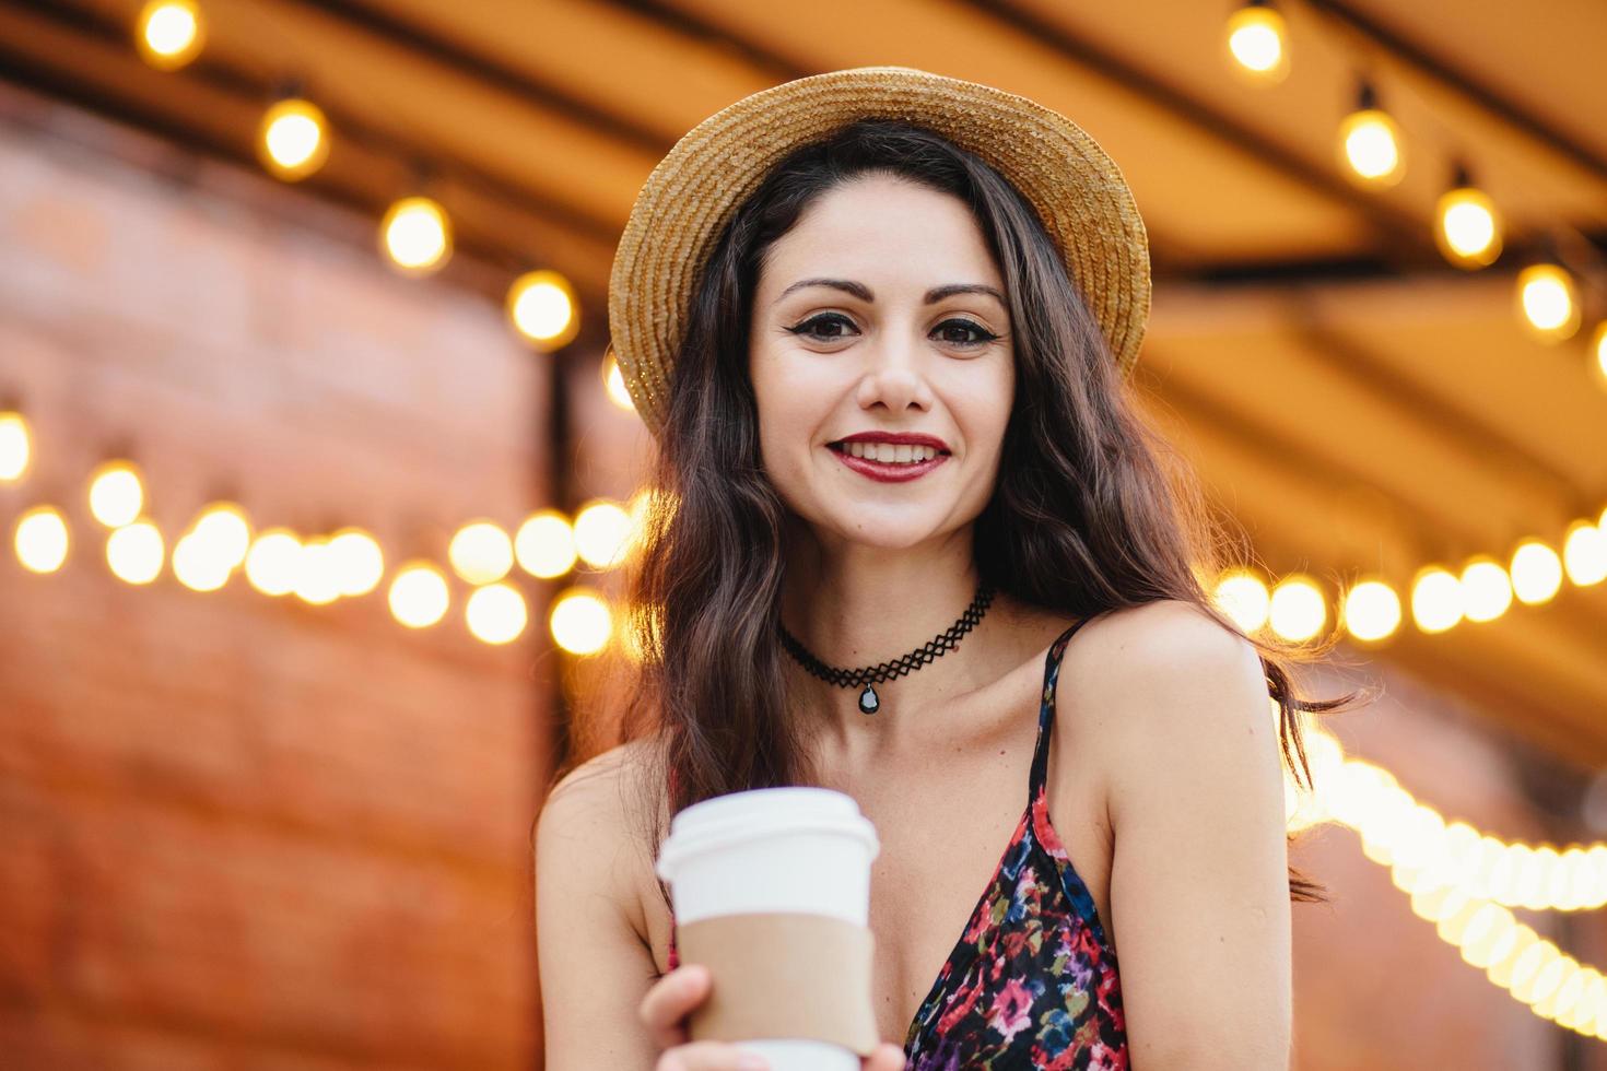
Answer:
[(860, 119), (905, 119), (975, 153), (1038, 210), (1125, 374), (1149, 316), (1149, 241), (1122, 170), (1059, 112), (913, 67), (815, 74), (744, 96), (652, 169), (614, 254), (609, 332), (654, 435), (693, 287), (736, 207), (794, 148)]

